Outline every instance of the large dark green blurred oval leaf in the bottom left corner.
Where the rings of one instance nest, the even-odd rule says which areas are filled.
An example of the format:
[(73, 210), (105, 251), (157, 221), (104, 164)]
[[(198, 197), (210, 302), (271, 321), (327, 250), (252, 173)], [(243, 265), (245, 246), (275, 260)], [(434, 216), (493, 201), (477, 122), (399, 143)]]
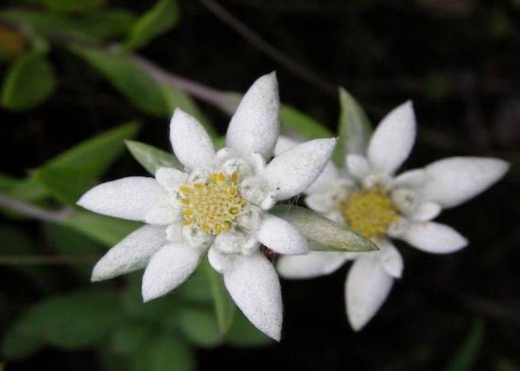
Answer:
[(91, 289), (46, 299), (29, 309), (15, 327), (30, 334), (28, 340), (33, 336), (57, 347), (80, 349), (99, 345), (121, 319), (114, 292)]

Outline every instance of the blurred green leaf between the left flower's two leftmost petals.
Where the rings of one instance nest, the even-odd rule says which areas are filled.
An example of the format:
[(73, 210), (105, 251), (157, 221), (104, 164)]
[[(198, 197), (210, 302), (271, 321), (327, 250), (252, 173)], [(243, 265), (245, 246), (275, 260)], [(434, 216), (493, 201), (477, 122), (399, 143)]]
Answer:
[(94, 212), (76, 210), (62, 225), (78, 230), (105, 246), (112, 247), (139, 228), (136, 221), (105, 217)]

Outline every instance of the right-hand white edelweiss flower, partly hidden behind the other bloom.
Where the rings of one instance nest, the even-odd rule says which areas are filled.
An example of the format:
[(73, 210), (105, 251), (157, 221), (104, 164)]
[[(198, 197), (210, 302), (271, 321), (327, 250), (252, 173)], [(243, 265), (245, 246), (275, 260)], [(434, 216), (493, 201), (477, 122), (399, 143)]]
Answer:
[[(415, 141), (415, 114), (406, 102), (376, 128), (367, 156), (347, 154), (345, 170), (330, 162), (306, 191), (306, 204), (335, 221), (369, 237), (379, 246), (370, 253), (319, 253), (283, 256), (277, 269), (285, 278), (311, 278), (336, 271), (354, 260), (345, 282), (349, 322), (358, 331), (376, 314), (401, 277), (403, 260), (389, 237), (402, 239), (427, 253), (453, 253), (467, 239), (453, 228), (432, 221), (442, 208), (475, 197), (508, 171), (505, 161), (451, 157), (422, 169), (395, 171)], [(275, 154), (296, 143), (281, 137)]]

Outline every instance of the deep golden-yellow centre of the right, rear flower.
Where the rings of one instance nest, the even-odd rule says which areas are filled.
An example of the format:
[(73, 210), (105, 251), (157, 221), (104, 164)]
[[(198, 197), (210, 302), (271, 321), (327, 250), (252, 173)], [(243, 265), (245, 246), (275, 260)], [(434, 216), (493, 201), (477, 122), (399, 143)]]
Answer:
[(367, 238), (381, 239), (399, 219), (397, 207), (380, 187), (349, 194), (340, 206), (347, 225)]

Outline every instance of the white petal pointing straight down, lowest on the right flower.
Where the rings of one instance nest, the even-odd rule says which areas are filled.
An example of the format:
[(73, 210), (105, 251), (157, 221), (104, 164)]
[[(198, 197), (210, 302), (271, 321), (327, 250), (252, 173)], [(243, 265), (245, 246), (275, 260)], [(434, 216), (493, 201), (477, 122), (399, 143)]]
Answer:
[(379, 259), (369, 254), (356, 259), (345, 282), (347, 316), (354, 331), (361, 330), (374, 317), (394, 282)]

